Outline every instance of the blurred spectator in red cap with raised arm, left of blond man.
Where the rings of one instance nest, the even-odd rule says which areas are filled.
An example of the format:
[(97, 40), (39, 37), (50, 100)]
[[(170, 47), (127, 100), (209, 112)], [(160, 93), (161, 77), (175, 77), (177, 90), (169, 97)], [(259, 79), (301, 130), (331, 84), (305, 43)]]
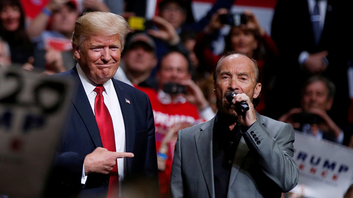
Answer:
[[(35, 47), (35, 68), (49, 73), (64, 72), (72, 68), (73, 59), (71, 38), (75, 21), (78, 18), (75, 0), (50, 0), (49, 4), (32, 21), (28, 34)], [(50, 30), (46, 30), (52, 17)]]

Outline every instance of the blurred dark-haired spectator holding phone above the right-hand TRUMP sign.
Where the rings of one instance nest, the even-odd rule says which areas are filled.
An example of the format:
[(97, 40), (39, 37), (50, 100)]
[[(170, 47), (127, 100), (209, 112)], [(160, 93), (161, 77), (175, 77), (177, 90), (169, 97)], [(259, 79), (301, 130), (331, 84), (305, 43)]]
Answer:
[(301, 94), (301, 108), (294, 108), (278, 120), (292, 124), (303, 133), (342, 144), (343, 131), (327, 115), (335, 95), (335, 85), (323, 76), (307, 80)]

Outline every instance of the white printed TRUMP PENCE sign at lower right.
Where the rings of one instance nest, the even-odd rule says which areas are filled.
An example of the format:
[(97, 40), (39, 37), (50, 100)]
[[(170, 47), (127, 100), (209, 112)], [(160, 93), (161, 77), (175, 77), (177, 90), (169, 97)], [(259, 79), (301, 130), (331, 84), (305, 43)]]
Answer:
[(353, 149), (317, 140), (295, 132), (294, 160), (299, 168), (299, 183), (292, 190), (305, 197), (343, 197), (353, 179)]

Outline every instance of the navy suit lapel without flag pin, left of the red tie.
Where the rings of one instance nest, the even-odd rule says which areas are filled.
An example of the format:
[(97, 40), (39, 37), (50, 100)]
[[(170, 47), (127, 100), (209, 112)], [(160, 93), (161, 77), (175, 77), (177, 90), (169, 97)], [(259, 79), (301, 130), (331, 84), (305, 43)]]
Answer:
[(103, 147), (96, 118), (94, 117), (94, 114), (92, 112), (91, 105), (83, 88), (82, 82), (78, 76), (76, 67), (71, 69), (70, 75), (73, 76), (73, 79), (77, 85), (76, 97), (71, 96), (73, 106), (76, 108), (84, 124), (86, 125), (86, 128), (92, 138), (93, 143), (95, 144), (95, 147)]

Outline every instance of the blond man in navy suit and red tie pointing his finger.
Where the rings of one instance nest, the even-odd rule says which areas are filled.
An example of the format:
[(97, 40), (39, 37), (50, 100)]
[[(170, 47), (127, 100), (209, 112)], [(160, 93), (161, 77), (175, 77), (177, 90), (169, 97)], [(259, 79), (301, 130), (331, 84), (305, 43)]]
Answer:
[[(149, 98), (112, 79), (128, 24), (119, 15), (89, 12), (76, 20), (77, 65), (57, 77), (77, 84), (67, 130), (55, 155), (48, 197), (128, 197), (135, 181), (158, 192), (155, 128)], [(137, 191), (134, 192), (136, 194)]]

